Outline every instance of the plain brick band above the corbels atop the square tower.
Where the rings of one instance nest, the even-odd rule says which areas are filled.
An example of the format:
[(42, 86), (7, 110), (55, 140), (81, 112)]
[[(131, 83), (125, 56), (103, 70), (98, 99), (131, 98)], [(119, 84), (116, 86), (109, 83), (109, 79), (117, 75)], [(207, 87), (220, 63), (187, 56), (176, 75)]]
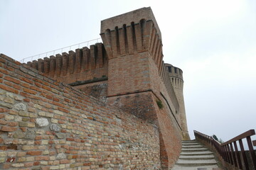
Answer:
[(105, 33), (105, 31), (108, 29), (114, 30), (116, 27), (122, 28), (124, 25), (129, 26), (132, 22), (139, 23), (142, 19), (145, 21), (153, 21), (157, 33), (159, 34), (159, 38), (161, 38), (161, 31), (156, 23), (156, 18), (154, 18), (153, 11), (150, 7), (139, 8), (137, 10), (101, 21), (100, 33)]

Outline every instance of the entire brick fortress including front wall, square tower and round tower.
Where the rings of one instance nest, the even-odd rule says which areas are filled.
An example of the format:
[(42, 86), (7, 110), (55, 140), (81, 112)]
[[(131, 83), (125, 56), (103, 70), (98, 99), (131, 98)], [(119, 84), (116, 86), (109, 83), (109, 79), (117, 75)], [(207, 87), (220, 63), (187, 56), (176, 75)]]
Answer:
[(171, 169), (189, 140), (183, 72), (151, 8), (101, 21), (103, 43), (0, 57), (0, 169)]

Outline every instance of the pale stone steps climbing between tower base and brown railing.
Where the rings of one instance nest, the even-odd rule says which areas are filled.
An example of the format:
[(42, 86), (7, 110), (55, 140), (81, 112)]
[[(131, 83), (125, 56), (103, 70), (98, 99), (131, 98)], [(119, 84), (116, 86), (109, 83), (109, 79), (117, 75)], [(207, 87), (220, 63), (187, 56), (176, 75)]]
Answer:
[(213, 152), (196, 142), (187, 140), (182, 142), (182, 149), (178, 161), (171, 170), (220, 170)]

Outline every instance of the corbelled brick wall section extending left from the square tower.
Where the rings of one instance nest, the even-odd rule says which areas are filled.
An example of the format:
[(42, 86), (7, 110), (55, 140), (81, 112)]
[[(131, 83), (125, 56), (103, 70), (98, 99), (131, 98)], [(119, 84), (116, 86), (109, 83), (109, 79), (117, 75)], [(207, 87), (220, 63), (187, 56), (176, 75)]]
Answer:
[[(90, 45), (90, 49), (82, 47), (75, 52), (63, 52), (62, 55), (33, 60), (27, 64), (49, 77), (65, 81), (68, 84), (107, 76), (107, 55), (102, 43)], [(96, 69), (103, 70), (95, 72)]]

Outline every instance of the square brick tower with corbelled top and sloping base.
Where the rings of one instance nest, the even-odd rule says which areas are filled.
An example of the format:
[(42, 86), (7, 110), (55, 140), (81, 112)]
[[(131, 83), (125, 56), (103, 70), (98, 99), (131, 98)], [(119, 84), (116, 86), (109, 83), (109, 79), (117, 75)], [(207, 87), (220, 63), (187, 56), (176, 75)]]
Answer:
[(177, 114), (183, 108), (163, 62), (161, 32), (151, 8), (102, 21), (100, 35), (108, 57), (108, 103), (159, 128), (161, 166), (169, 169), (181, 151), (181, 122), (186, 121)]

